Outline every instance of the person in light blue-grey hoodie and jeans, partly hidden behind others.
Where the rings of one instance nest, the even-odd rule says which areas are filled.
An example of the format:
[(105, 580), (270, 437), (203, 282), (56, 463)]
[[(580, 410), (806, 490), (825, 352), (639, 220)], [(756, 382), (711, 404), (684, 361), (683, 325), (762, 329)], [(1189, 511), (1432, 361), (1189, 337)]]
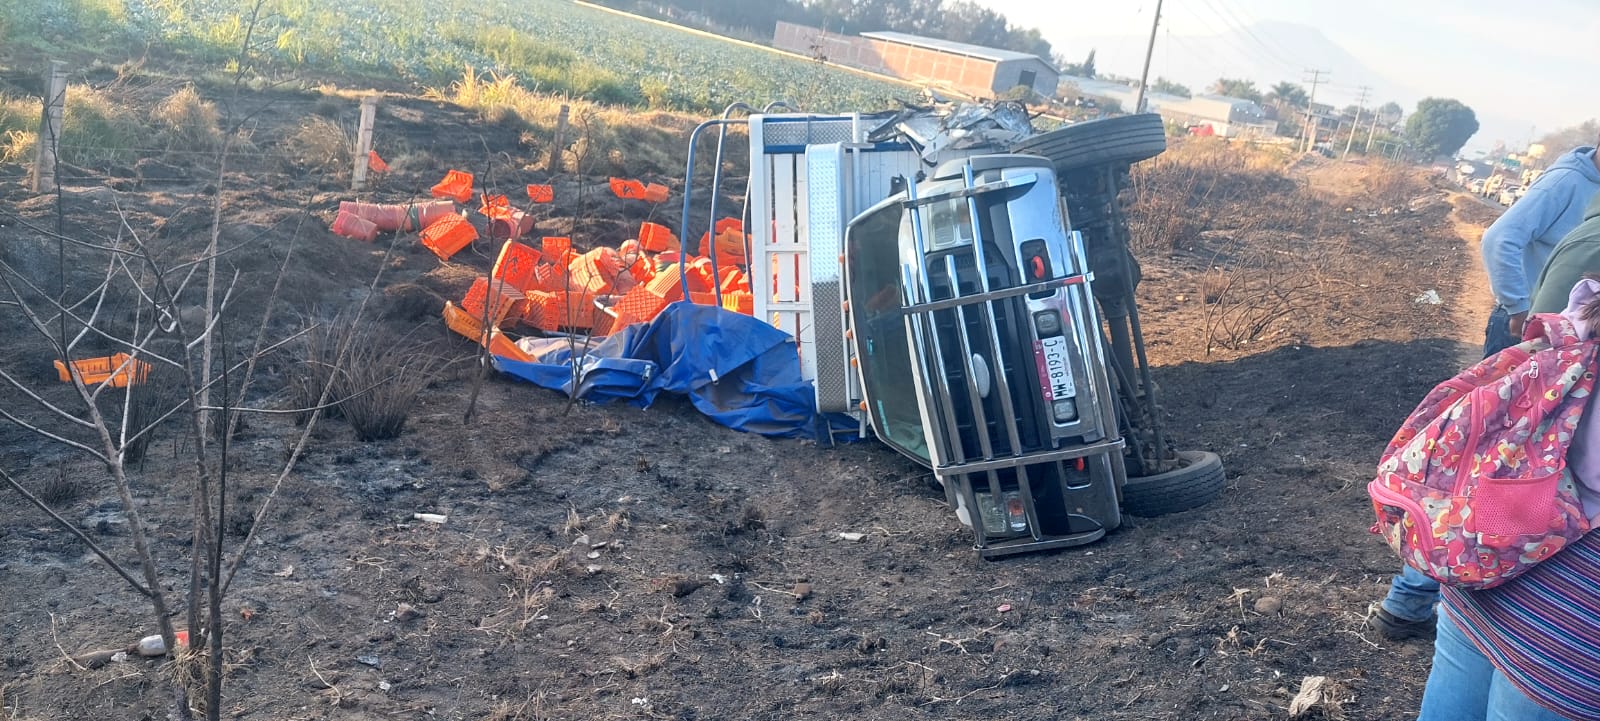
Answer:
[[(1533, 286), (1555, 245), (1582, 222), (1584, 208), (1597, 190), (1600, 155), (1592, 145), (1573, 149), (1557, 158), (1528, 185), (1528, 193), (1483, 232), (1480, 251), (1496, 304), (1488, 328), (1483, 329), (1485, 358), (1522, 341)], [(1571, 289), (1573, 283), (1576, 278), (1565, 288)], [(1565, 291), (1554, 293), (1560, 293), (1565, 301)], [(1555, 310), (1562, 307), (1565, 302)], [(1434, 638), (1435, 603), (1438, 582), (1405, 566), (1389, 584), (1389, 595), (1366, 623), (1390, 641)]]

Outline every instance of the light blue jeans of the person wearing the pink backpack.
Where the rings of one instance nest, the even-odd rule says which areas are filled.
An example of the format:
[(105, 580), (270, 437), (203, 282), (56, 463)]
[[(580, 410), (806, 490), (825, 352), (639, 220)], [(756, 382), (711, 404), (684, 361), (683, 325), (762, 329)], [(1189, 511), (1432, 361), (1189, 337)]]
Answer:
[(1438, 614), (1434, 670), (1416, 721), (1565, 721), (1523, 695), (1472, 643), (1450, 612)]

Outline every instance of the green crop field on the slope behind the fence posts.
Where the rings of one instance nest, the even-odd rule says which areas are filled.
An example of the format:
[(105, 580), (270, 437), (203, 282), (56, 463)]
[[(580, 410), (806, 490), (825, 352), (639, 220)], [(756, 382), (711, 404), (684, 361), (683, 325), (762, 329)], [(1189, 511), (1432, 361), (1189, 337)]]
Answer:
[[(0, 0), (0, 42), (38, 50), (162, 45), (232, 66), (253, 30), (262, 74), (390, 77), (443, 88), (466, 67), (618, 106), (693, 112), (790, 99), (890, 107), (915, 91), (806, 59), (563, 0)], [(142, 46), (133, 45), (133, 46)]]

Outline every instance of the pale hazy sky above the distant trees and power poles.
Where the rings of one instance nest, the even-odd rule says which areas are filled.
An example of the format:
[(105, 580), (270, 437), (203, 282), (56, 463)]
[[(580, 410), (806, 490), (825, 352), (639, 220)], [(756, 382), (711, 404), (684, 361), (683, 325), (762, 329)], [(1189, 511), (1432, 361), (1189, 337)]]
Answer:
[[(1091, 40), (1147, 37), (1155, 10), (1155, 0), (978, 2), (1014, 24), (1038, 27), (1069, 58), (1086, 53)], [(1496, 139), (1520, 147), (1530, 133), (1600, 117), (1597, 0), (1166, 0), (1162, 16), (1152, 75), (1182, 67), (1182, 35), (1222, 35), (1261, 21), (1298, 22), (1317, 27), (1382, 75), (1333, 77), (1330, 101), (1354, 102), (1360, 85), (1414, 88), (1418, 98), (1395, 98), (1406, 112), (1421, 96), (1456, 98), (1483, 125), (1469, 147), (1486, 149)], [(1282, 69), (1285, 80), (1299, 80), (1298, 69), (1322, 67), (1318, 58), (1272, 35), (1240, 45), (1242, 56)], [(1115, 62), (1101, 64), (1101, 70), (1138, 77), (1136, 61)]]

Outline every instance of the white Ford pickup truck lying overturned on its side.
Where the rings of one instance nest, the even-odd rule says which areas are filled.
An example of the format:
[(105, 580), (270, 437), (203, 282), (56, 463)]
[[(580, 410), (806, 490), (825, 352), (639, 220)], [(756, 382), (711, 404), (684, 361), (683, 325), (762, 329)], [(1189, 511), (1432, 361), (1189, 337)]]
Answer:
[(1158, 117), (998, 133), (1000, 152), (862, 115), (701, 129), (726, 123), (749, 128), (755, 317), (794, 336), (819, 411), (933, 468), (984, 556), (1221, 491), (1214, 454), (1162, 433), (1134, 305), (1117, 193), (1165, 150)]

